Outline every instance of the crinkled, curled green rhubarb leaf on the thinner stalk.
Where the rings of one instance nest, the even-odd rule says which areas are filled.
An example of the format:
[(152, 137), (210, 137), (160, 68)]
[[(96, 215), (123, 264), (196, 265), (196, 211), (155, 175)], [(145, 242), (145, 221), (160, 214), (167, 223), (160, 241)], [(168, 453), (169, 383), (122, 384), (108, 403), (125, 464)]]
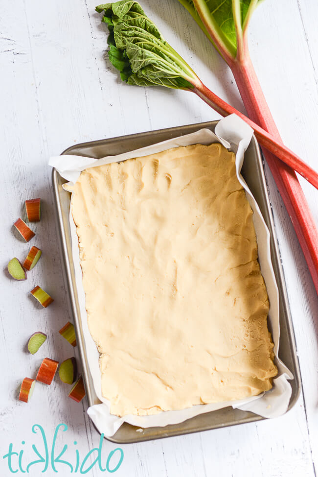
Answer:
[(96, 7), (109, 29), (108, 56), (130, 85), (192, 89), (198, 78), (164, 40), (138, 2), (121, 0)]

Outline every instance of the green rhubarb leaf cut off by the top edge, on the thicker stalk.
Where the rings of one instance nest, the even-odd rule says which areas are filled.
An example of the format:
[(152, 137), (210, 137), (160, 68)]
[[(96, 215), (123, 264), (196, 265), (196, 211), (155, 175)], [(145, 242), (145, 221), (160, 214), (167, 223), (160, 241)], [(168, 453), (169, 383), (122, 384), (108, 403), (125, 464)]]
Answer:
[(179, 0), (221, 54), (234, 58), (251, 14), (263, 0)]

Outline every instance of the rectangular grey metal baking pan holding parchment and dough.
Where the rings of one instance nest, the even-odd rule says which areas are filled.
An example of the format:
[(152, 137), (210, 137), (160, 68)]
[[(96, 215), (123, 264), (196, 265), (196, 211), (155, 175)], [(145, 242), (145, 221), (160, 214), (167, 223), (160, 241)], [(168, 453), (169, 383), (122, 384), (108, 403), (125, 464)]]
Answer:
[[(121, 136), (112, 139), (104, 139), (101, 141), (92, 141), (90, 143), (82, 143), (69, 147), (62, 154), (75, 154), (79, 156), (88, 156), (100, 159), (105, 156), (121, 154), (131, 151), (139, 147), (148, 146), (150, 144), (159, 143), (167, 139), (190, 134), (201, 128), (208, 128), (214, 132), (214, 128), (218, 121), (202, 122), (199, 124), (191, 124), (187, 126), (173, 127), (168, 129), (159, 129), (158, 131), (149, 131), (146, 133), (132, 134), (129, 136)], [(291, 320), (286, 287), (283, 277), (283, 271), (280, 263), (279, 249), (274, 229), (273, 216), (271, 212), (271, 204), (269, 201), (267, 184), (264, 175), (262, 157), (255, 137), (252, 137), (250, 145), (245, 153), (242, 175), (246, 180), (252, 194), (254, 195), (260, 210), (263, 214), (265, 222), (271, 233), (271, 255), (273, 269), (279, 289), (279, 306), (280, 306), (280, 343), (279, 357), (291, 370), (294, 380), (291, 381), (292, 396), (288, 406), (291, 409), (300, 393), (300, 372), (296, 353), (295, 335)], [(57, 221), (60, 235), (61, 251), (64, 261), (65, 284), (68, 291), (68, 299), (70, 310), (73, 315), (73, 322), (76, 330), (77, 344), (79, 354), (82, 359), (83, 379), (85, 382), (86, 393), (89, 405), (99, 404), (91, 374), (89, 371), (88, 360), (86, 356), (85, 343), (83, 338), (81, 317), (78, 306), (77, 290), (75, 286), (74, 266), (71, 252), (71, 238), (69, 227), (69, 205), (70, 193), (64, 191), (62, 185), (66, 182), (56, 169), (52, 172), (52, 183), (54, 198), (57, 210)], [(159, 439), (180, 434), (188, 434), (190, 432), (199, 432), (208, 429), (217, 429), (221, 427), (234, 426), (248, 422), (255, 422), (264, 419), (250, 411), (233, 409), (225, 407), (216, 411), (208, 412), (195, 416), (180, 424), (169, 425), (165, 427), (154, 427), (143, 429), (142, 432), (136, 432), (136, 427), (124, 423), (112, 437), (108, 439), (119, 444), (141, 442), (149, 439)]]

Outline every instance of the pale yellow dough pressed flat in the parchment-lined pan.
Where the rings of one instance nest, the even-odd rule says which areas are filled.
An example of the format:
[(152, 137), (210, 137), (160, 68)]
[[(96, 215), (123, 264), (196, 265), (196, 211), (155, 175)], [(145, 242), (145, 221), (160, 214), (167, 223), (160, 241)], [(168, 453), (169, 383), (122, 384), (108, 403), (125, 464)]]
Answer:
[(272, 387), (269, 302), (233, 153), (195, 144), (91, 167), (73, 192), (88, 325), (112, 414)]

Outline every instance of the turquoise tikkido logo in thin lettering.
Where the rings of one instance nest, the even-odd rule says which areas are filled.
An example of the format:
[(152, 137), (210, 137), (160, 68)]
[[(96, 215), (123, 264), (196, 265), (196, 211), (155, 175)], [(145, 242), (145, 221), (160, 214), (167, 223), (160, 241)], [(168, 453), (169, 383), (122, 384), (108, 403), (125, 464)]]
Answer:
[[(124, 459), (124, 451), (120, 447), (117, 447), (116, 449), (111, 451), (108, 454), (107, 459), (106, 456), (103, 457), (102, 447), (104, 443), (104, 434), (101, 434), (100, 436), (99, 446), (91, 449), (91, 451), (89, 451), (84, 457), (80, 456), (79, 450), (76, 448), (76, 441), (73, 442), (73, 446), (75, 447), (71, 448), (70, 446), (65, 444), (63, 446), (62, 451), (57, 451), (57, 437), (60, 428), (62, 428), (61, 430), (63, 432), (68, 430), (68, 426), (66, 424), (59, 424), (58, 426), (56, 426), (53, 435), (52, 446), (49, 452), (47, 439), (43, 427), (39, 424), (35, 424), (34, 426), (32, 426), (32, 432), (34, 434), (37, 434), (38, 432), (39, 434), (41, 434), (42, 442), (41, 447), (39, 444), (37, 444), (38, 447), (36, 447), (35, 444), (31, 445), (33, 452), (37, 456), (37, 459), (29, 463), (24, 462), (23, 448), (19, 452), (16, 452), (13, 449), (13, 444), (9, 444), (8, 452), (2, 457), (5, 460), (7, 459), (9, 471), (12, 474), (16, 474), (20, 470), (20, 472), (22, 472), (23, 474), (28, 474), (30, 472), (30, 469), (34, 470), (36, 467), (37, 471), (41, 472), (42, 474), (46, 471), (49, 471), (49, 469), (52, 469), (53, 472), (58, 473), (59, 471), (63, 472), (64, 468), (67, 466), (70, 469), (70, 474), (87, 474), (92, 470), (94, 466), (96, 466), (101, 472), (114, 473), (121, 466), (121, 463)], [(25, 441), (22, 441), (21, 444), (22, 446), (25, 446)], [(39, 451), (39, 448), (41, 449), (41, 452)], [(95, 459), (90, 463), (91, 457), (94, 456), (94, 453)], [(62, 460), (62, 456), (64, 457), (64, 459), (68, 457), (69, 460)]]

